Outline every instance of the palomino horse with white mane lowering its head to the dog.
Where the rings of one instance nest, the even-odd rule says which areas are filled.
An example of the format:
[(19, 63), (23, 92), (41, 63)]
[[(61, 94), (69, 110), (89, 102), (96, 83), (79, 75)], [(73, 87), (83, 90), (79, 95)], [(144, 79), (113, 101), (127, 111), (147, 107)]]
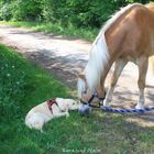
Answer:
[(116, 62), (110, 88), (103, 100), (103, 106), (109, 107), (123, 67), (128, 62), (133, 62), (139, 67), (140, 90), (135, 108), (142, 109), (148, 57), (152, 55), (154, 55), (154, 3), (129, 4), (105, 24), (92, 44), (88, 64), (84, 73), (78, 75), (78, 95), (81, 102), (92, 101), (94, 90), (97, 91), (97, 96), (105, 97), (105, 80)]

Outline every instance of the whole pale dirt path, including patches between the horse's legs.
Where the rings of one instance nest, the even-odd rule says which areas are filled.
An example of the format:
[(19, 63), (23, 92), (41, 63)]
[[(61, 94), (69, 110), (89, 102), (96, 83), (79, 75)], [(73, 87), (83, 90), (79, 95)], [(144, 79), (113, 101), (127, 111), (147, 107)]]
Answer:
[[(76, 87), (76, 76), (73, 72), (84, 69), (91, 47), (91, 43), (82, 40), (35, 33), (28, 29), (7, 25), (0, 25), (0, 43), (15, 48), (72, 88)], [(111, 74), (112, 70), (108, 75), (107, 86)], [(134, 64), (127, 65), (116, 88), (113, 106), (134, 108), (139, 94), (136, 80), (136, 66)], [(146, 106), (154, 106), (154, 79), (151, 68), (146, 85)], [(135, 119), (142, 124), (154, 127), (154, 112), (134, 117), (133, 120)]]

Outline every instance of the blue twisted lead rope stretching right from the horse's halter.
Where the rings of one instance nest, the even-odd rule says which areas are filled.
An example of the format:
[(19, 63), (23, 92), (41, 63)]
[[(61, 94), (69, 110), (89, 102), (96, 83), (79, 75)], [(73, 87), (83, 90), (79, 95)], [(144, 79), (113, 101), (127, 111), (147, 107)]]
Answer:
[(143, 113), (143, 112), (147, 112), (147, 111), (153, 111), (153, 108), (144, 108), (144, 109), (124, 109), (124, 110), (118, 110), (118, 109), (112, 109), (109, 107), (100, 107), (102, 110), (108, 111), (108, 112), (116, 112), (116, 113)]

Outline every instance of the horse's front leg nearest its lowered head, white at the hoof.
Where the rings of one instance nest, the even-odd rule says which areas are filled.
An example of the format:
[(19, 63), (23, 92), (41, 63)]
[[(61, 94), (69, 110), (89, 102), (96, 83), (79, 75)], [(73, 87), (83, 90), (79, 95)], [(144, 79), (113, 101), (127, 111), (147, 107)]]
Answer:
[(106, 96), (106, 99), (103, 101), (105, 107), (109, 107), (109, 103), (112, 100), (116, 84), (117, 84), (117, 81), (119, 79), (119, 76), (121, 75), (124, 66), (127, 65), (127, 63), (128, 63), (128, 61), (122, 59), (122, 58), (120, 58), (116, 62), (114, 72), (113, 72), (113, 75), (112, 75), (112, 78), (111, 78), (110, 88), (109, 88), (109, 90), (107, 92), (107, 96)]

